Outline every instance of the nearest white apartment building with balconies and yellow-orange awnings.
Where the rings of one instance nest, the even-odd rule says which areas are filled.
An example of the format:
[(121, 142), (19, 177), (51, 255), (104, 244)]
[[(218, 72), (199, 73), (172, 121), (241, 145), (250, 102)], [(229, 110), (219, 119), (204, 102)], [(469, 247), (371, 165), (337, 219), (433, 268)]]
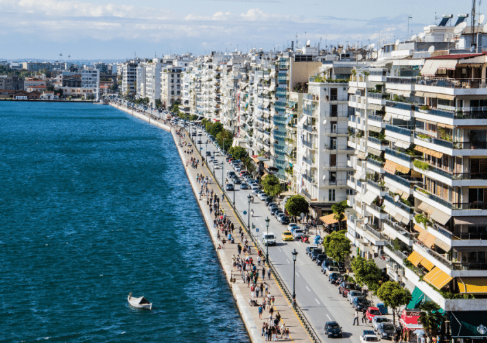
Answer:
[(487, 55), (427, 52), (455, 44), (439, 30), (390, 45), (350, 82), (347, 235), (412, 291), (407, 307), (433, 300), (452, 338), (485, 340)]

